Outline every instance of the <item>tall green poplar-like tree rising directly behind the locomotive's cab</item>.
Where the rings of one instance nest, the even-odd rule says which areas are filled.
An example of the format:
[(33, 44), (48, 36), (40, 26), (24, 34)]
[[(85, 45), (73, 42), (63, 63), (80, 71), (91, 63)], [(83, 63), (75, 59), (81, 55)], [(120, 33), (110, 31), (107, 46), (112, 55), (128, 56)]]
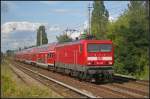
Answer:
[(106, 39), (109, 13), (104, 6), (104, 1), (94, 1), (92, 11), (91, 31), (96, 39)]

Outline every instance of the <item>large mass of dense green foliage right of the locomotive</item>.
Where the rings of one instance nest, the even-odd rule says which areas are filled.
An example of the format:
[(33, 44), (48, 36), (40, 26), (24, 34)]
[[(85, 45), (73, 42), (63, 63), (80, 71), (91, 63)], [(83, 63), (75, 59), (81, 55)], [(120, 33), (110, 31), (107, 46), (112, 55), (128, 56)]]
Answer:
[(107, 37), (115, 44), (115, 71), (135, 76), (148, 67), (149, 23), (145, 1), (130, 1), (117, 21), (109, 23)]

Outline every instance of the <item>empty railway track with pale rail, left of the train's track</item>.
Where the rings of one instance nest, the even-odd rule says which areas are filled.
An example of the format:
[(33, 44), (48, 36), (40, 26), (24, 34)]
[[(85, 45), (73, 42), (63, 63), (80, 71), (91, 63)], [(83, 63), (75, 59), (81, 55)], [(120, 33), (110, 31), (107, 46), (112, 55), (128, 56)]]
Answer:
[[(27, 75), (30, 75), (32, 78), (40, 81), (41, 83), (43, 83), (44, 85), (46, 86), (49, 86), (49, 87), (59, 87), (59, 89), (61, 88), (61, 92), (59, 92), (58, 90), (54, 89), (55, 91), (57, 91), (57, 93), (59, 92), (59, 94), (61, 94), (63, 97), (70, 97), (70, 95), (74, 96), (74, 97), (81, 97), (81, 98), (96, 98), (95, 96), (93, 95), (90, 95), (88, 93), (85, 93), (85, 92), (82, 92), (80, 91), (79, 89), (77, 88), (74, 88), (72, 86), (69, 86), (65, 83), (62, 83), (58, 80), (55, 80), (53, 78), (50, 78), (48, 76), (45, 76), (37, 71), (34, 71), (34, 70), (31, 70), (27, 67), (23, 67), (21, 65), (18, 65), (18, 64), (15, 64), (16, 67), (19, 67), (18, 69), (20, 69), (21, 71), (23, 71), (24, 73), (26, 73)], [(34, 76), (33, 76), (34, 75)], [(36, 78), (35, 78), (36, 77)], [(63, 91), (62, 91), (63, 90)], [(69, 92), (69, 96), (67, 95), (64, 95), (66, 93)], [(63, 94), (62, 94), (63, 93)], [(99, 97), (101, 98), (101, 97)]]

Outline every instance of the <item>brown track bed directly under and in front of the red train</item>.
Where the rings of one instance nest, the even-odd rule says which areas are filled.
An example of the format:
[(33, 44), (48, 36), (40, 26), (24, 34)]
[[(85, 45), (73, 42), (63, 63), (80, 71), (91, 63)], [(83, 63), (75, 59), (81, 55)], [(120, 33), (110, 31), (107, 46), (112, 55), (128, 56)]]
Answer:
[[(92, 93), (94, 97), (100, 97), (100, 98), (148, 98), (149, 97), (149, 90), (145, 91), (145, 89), (148, 87), (147, 85), (139, 85), (137, 83), (136, 86), (132, 86), (132, 82), (130, 85), (130, 82), (125, 82), (128, 85), (124, 84), (123, 81), (122, 83), (118, 82), (113, 82), (113, 83), (108, 83), (108, 84), (93, 84), (89, 82), (84, 82), (84, 81), (79, 81), (76, 78), (71, 78), (68, 76), (65, 76), (63, 74), (59, 73), (53, 73), (51, 71), (47, 71), (45, 69), (41, 68), (36, 68), (31, 65), (27, 64), (22, 64), (22, 63), (15, 63), (14, 64), (19, 64), (22, 65), (23, 67), (30, 68), (37, 73), (41, 73), (42, 75), (46, 77), (51, 77), (52, 79), (55, 79), (57, 81), (63, 82), (66, 85), (73, 86), (74, 88), (81, 90), (82, 92), (86, 93)], [(18, 67), (19, 67), (18, 66)], [(115, 80), (116, 81), (116, 80)], [(144, 87), (143, 89), (141, 87)], [(140, 90), (138, 90), (138, 88)]]

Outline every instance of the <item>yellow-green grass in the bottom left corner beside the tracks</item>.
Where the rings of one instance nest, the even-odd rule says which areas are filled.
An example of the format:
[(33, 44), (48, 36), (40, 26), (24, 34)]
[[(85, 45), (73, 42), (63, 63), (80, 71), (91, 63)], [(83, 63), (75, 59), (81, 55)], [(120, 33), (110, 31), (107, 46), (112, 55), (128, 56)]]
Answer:
[(13, 79), (15, 74), (11, 71), (8, 63), (1, 63), (1, 97), (2, 98), (61, 98), (60, 95), (48, 88), (27, 86)]

